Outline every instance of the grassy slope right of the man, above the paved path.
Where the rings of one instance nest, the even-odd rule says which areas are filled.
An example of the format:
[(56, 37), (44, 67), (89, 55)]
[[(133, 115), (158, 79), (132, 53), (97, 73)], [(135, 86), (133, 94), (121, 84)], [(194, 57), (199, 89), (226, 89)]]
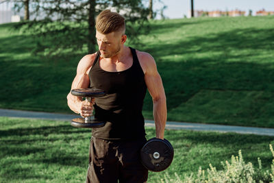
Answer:
[(143, 36), (143, 49), (158, 61), (169, 119), (273, 127), (273, 21), (155, 21), (156, 38)]

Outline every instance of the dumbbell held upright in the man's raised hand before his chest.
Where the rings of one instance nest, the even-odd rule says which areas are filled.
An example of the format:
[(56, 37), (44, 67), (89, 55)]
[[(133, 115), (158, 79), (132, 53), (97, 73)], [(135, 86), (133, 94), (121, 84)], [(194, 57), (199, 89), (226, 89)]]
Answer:
[[(71, 90), (71, 94), (77, 97), (86, 97), (86, 101), (91, 101), (91, 98), (105, 96), (105, 92), (97, 88), (77, 88)], [(105, 123), (106, 121), (92, 119), (91, 117), (75, 118), (71, 121), (71, 125), (74, 127), (86, 128), (103, 127)]]

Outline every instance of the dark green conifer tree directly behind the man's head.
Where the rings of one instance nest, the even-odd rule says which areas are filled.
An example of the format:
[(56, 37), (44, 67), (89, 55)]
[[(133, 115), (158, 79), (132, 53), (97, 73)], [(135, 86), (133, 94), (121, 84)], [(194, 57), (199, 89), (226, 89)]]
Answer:
[[(110, 9), (123, 14), (127, 21), (127, 34), (132, 41), (137, 40), (137, 34), (145, 27), (149, 14), (142, 0), (32, 0), (31, 7), (34, 20), (18, 26), (36, 36), (34, 53), (42, 51), (44, 55), (79, 49), (93, 53), (97, 45), (95, 16), (101, 10)], [(44, 42), (50, 39), (51, 47)]]

